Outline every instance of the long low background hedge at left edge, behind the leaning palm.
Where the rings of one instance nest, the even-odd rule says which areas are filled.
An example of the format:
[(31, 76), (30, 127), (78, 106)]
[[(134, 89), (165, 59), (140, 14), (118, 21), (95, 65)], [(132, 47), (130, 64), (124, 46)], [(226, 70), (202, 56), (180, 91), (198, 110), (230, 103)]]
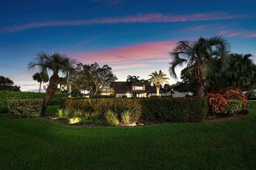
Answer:
[[(0, 91), (0, 101), (23, 100), (23, 99), (43, 99), (45, 93), (25, 92), (25, 91)], [(53, 98), (68, 97), (67, 94), (54, 94)]]

